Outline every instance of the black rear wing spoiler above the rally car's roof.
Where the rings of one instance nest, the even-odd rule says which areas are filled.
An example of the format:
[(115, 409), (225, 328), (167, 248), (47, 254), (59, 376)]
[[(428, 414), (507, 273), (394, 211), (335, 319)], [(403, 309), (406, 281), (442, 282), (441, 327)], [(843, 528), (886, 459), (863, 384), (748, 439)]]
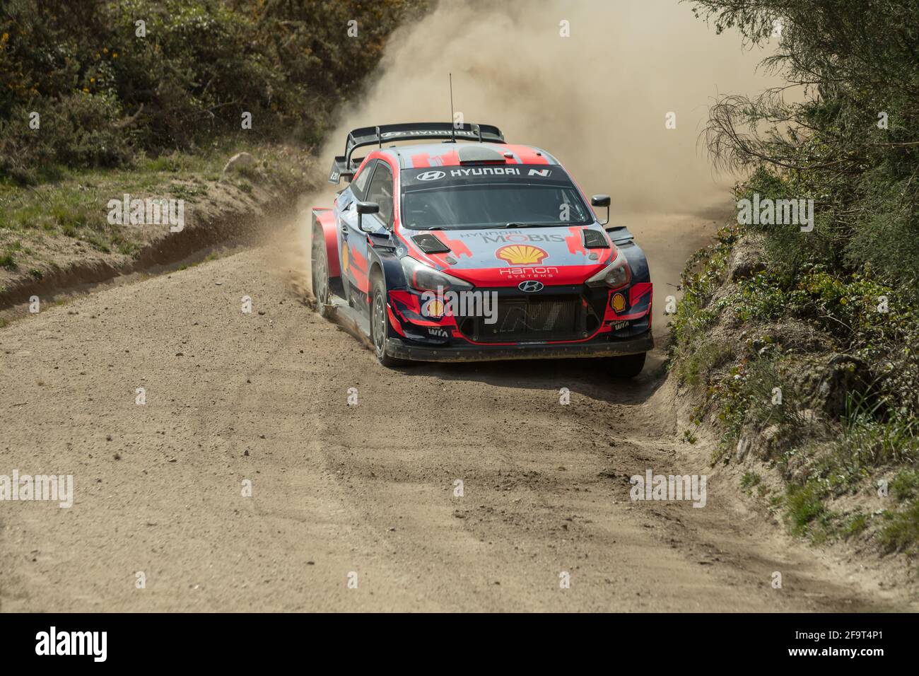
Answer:
[(361, 127), (347, 135), (345, 155), (336, 155), (329, 172), (329, 183), (336, 185), (341, 178), (351, 180), (357, 166), (351, 162), (351, 154), (366, 145), (383, 147), (384, 141), (416, 141), (421, 139), (442, 139), (456, 141), (478, 141), (505, 143), (505, 135), (491, 124), (462, 124), (455, 127), (450, 122), (408, 122), (403, 124), (381, 124), (378, 127)]

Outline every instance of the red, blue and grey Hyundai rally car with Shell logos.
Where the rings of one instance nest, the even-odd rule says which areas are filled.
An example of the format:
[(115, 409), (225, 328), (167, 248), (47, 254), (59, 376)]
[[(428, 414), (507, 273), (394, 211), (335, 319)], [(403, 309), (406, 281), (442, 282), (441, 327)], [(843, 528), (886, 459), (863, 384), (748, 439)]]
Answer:
[(333, 161), (329, 182), (342, 178), (333, 206), (312, 210), (312, 290), (384, 366), (575, 357), (641, 372), (647, 260), (608, 224), (609, 197), (588, 205), (546, 151), (486, 124), (365, 127)]

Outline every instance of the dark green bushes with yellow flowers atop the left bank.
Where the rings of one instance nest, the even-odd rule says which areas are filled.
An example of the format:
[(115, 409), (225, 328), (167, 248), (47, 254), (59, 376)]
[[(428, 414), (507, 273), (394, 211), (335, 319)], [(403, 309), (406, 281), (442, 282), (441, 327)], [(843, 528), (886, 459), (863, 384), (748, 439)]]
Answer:
[[(319, 143), (426, 0), (7, 0), (0, 179), (119, 166), (234, 135)], [(357, 37), (348, 22), (357, 21)], [(138, 20), (145, 22), (139, 36)], [(31, 112), (40, 129), (29, 128)], [(241, 128), (244, 112), (252, 129)]]

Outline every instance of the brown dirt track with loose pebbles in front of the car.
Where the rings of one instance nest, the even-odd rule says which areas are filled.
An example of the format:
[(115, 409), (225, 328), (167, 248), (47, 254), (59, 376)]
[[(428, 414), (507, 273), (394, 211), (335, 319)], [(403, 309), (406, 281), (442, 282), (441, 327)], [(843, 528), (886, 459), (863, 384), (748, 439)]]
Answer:
[(0, 330), (0, 474), (75, 484), (69, 510), (0, 503), (4, 611), (897, 607), (717, 478), (705, 509), (630, 501), (647, 468), (710, 472), (660, 355), (632, 384), (574, 361), (388, 372), (269, 271), (274, 250)]

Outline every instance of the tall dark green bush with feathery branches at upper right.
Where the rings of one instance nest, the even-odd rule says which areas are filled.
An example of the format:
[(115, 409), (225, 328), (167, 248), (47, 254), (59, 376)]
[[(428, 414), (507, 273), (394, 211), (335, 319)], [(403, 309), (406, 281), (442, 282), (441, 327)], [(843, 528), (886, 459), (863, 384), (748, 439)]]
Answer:
[(754, 226), (778, 271), (870, 269), (919, 304), (919, 2), (690, 1), (719, 31), (768, 40), (767, 66), (802, 92), (720, 97), (705, 132), (717, 162), (752, 171), (739, 196), (813, 200), (811, 232)]

